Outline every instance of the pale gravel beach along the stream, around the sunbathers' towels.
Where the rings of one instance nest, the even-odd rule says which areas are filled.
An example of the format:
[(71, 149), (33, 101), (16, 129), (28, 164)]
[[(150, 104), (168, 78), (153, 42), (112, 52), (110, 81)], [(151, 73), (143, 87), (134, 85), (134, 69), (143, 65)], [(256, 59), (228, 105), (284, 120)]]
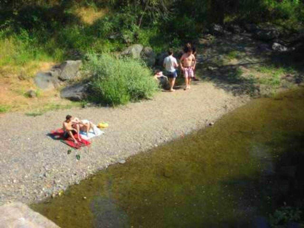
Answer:
[[(153, 100), (119, 108), (77, 108), (36, 117), (2, 115), (0, 204), (30, 203), (56, 194), (121, 159), (200, 129), (248, 100), (201, 82), (190, 91), (161, 92)], [(91, 147), (67, 154), (67, 145), (47, 136), (67, 114), (106, 121), (109, 128), (92, 139)]]

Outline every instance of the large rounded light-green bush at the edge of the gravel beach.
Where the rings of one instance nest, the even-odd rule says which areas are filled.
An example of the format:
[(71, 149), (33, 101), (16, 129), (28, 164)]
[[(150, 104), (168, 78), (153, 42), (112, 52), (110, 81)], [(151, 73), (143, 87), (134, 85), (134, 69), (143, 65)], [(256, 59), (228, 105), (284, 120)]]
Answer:
[(88, 54), (84, 71), (90, 80), (94, 102), (119, 105), (150, 98), (157, 91), (151, 71), (131, 58), (115, 58), (111, 54)]

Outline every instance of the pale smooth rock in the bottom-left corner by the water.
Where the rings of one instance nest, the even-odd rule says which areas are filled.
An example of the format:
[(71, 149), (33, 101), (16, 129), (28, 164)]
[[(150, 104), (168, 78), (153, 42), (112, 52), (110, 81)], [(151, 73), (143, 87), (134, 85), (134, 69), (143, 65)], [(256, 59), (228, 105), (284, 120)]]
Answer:
[(16, 202), (0, 207), (0, 228), (59, 228), (55, 223)]

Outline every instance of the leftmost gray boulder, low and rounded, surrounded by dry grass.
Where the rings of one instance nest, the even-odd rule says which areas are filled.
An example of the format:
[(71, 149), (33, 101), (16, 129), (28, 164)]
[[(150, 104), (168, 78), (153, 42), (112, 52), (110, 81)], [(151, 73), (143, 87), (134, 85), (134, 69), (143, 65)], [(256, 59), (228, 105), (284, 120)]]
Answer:
[(42, 90), (51, 90), (60, 85), (58, 78), (53, 77), (50, 72), (39, 72), (34, 78), (35, 84)]

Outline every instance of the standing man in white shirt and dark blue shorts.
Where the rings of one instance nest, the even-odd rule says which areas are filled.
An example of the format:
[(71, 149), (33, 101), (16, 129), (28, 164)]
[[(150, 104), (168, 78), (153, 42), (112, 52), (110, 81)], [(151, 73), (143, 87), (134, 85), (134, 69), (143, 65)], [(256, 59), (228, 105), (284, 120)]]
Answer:
[(170, 49), (168, 51), (168, 57), (164, 59), (164, 67), (167, 71), (167, 77), (169, 79), (170, 84), (170, 92), (174, 92), (175, 89), (173, 89), (175, 78), (177, 78), (177, 72), (176, 69), (178, 67), (176, 58), (173, 57), (173, 51)]

